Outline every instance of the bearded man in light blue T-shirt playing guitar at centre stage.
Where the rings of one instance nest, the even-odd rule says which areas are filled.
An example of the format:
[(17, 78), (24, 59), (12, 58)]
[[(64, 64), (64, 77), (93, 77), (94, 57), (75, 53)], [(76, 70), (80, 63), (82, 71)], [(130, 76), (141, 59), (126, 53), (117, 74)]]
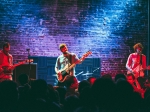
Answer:
[[(69, 77), (74, 77), (75, 75), (75, 68), (72, 68), (71, 70), (68, 70), (66, 74), (62, 74), (62, 70), (65, 67), (69, 67), (74, 62), (78, 61), (79, 58), (75, 53), (70, 53), (68, 51), (68, 47), (66, 44), (60, 44), (59, 49), (62, 52), (60, 56), (58, 56), (55, 64), (55, 72), (57, 73), (57, 77), (60, 79), (63, 79), (66, 74)], [(69, 77), (64, 82), (58, 81), (58, 86), (65, 86), (65, 82), (69, 80)]]

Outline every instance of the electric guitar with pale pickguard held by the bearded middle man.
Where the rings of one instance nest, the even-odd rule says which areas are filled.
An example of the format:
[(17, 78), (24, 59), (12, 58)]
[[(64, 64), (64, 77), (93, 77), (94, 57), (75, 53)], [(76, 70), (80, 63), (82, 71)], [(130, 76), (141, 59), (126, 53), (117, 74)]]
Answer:
[(88, 57), (90, 54), (92, 54), (91, 51), (86, 52), (79, 60), (77, 60), (72, 65), (68, 66), (66, 65), (63, 69), (60, 70), (61, 73), (58, 73), (57, 79), (59, 82), (64, 82), (66, 78), (69, 76), (69, 70), (71, 70), (73, 67), (76, 66), (76, 64), (79, 64), (80, 62), (84, 61), (86, 57)]

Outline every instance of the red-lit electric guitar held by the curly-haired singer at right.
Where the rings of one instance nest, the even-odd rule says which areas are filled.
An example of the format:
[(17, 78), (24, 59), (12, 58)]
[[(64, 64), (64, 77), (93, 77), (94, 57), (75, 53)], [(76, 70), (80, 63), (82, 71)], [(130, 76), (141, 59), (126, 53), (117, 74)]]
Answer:
[(144, 77), (144, 70), (150, 70), (150, 65), (147, 66), (145, 69), (143, 69), (141, 65), (138, 65), (136, 68), (132, 70), (133, 72), (128, 71), (127, 74), (131, 73), (135, 76), (135, 78)]

